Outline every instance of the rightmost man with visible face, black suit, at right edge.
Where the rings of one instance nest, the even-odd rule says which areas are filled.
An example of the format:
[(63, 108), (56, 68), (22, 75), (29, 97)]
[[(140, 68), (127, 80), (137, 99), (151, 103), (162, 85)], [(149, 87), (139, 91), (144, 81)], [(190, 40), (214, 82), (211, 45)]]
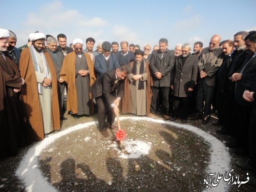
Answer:
[(234, 95), (236, 99), (233, 108), (232, 122), (234, 137), (237, 139), (237, 144), (240, 146), (236, 153), (239, 155), (248, 154), (249, 117), (252, 103), (243, 99), (243, 93), (245, 90), (245, 84), (256, 75), (255, 36), (256, 32), (252, 34), (249, 33), (245, 37), (244, 40), (246, 48), (251, 52), (251, 54), (247, 55), (239, 71), (233, 73), (231, 76), (231, 80), (235, 82)]

